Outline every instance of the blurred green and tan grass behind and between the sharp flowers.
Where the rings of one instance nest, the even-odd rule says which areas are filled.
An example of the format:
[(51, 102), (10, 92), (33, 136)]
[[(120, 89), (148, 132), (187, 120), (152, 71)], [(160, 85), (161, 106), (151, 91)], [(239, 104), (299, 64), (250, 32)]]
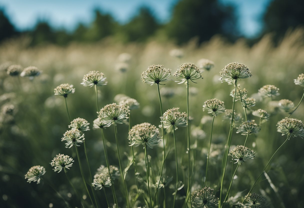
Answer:
[[(76, 151), (65, 148), (61, 138), (69, 130), (70, 124), (65, 99), (63, 96), (54, 95), (54, 88), (62, 83), (74, 85), (75, 93), (67, 97), (67, 106), (71, 119), (84, 118), (90, 123), (90, 131), (85, 131), (85, 143), (88, 161), (90, 164), (90, 177), (85, 157), (84, 145), (78, 147), (81, 164), (88, 184), (88, 191), (92, 195), (90, 178), (95, 175), (100, 165), (106, 166), (102, 131), (93, 128), (96, 113), (96, 96), (94, 87), (81, 85), (82, 78), (89, 71), (103, 72), (107, 85), (98, 86), (99, 109), (107, 104), (117, 102), (117, 94), (125, 94), (140, 103), (139, 109), (131, 110), (130, 127), (148, 122), (156, 127), (161, 124), (160, 102), (157, 85), (143, 83), (140, 75), (152, 64), (163, 64), (172, 70), (172, 75), (165, 85), (159, 85), (163, 112), (173, 107), (179, 107), (181, 112), (187, 112), (187, 85), (177, 84), (174, 72), (183, 63), (197, 64), (199, 59), (206, 58), (214, 62), (210, 71), (202, 73), (203, 79), (189, 82), (189, 127), (191, 143), (191, 184), (192, 193), (204, 187), (206, 174), (206, 161), (209, 150), (211, 114), (203, 111), (204, 102), (216, 98), (224, 101), (226, 109), (232, 109), (233, 98), (230, 92), (233, 85), (219, 81), (219, 72), (231, 62), (245, 64), (251, 71), (252, 77), (238, 82), (240, 88), (246, 88), (248, 97), (256, 99), (253, 107), (247, 108), (248, 120), (259, 119), (252, 115), (257, 109), (264, 109), (270, 114), (270, 119), (261, 124), (258, 133), (249, 135), (246, 146), (256, 152), (253, 160), (248, 160), (240, 165), (229, 192), (229, 203), (223, 207), (241, 207), (236, 205), (242, 202), (250, 187), (254, 184), (271, 156), (283, 144), (286, 135), (277, 132), (277, 123), (289, 114), (279, 109), (278, 101), (289, 99), (295, 106), (301, 100), (303, 87), (295, 85), (294, 79), (304, 73), (304, 30), (297, 29), (287, 33), (278, 46), (273, 46), (271, 36), (264, 36), (253, 47), (248, 47), (244, 40), (235, 44), (226, 43), (221, 37), (215, 36), (209, 42), (197, 45), (190, 41), (180, 47), (184, 56), (172, 57), (169, 52), (176, 48), (173, 43), (150, 41), (146, 44), (113, 43), (105, 40), (94, 45), (81, 45), (73, 43), (68, 47), (53, 45), (30, 48), (27, 47), (26, 38), (11, 40), (0, 46), (0, 105), (3, 109), (8, 103), (14, 106), (14, 113), (6, 115), (2, 110), (0, 116), (0, 207), (90, 207), (92, 203), (85, 189), (79, 171)], [(131, 55), (130, 61), (123, 65), (126, 72), (119, 71), (122, 53)], [(26, 77), (13, 77), (6, 73), (9, 65), (20, 64), (23, 68), (36, 66), (42, 71), (41, 75), (30, 80)], [(172, 81), (170, 81), (172, 80)], [(258, 89), (264, 85), (275, 85), (279, 88), (280, 95), (272, 98), (262, 98)], [(172, 97), (165, 96), (165, 90), (172, 92)], [(3, 107), (4, 106), (4, 107)], [(244, 110), (241, 102), (235, 102), (235, 111), (242, 115), (245, 121)], [(292, 118), (303, 120), (304, 103), (292, 114)], [(220, 175), (225, 152), (225, 144), (230, 130), (229, 120), (223, 119), (224, 113), (214, 119), (212, 144), (209, 156), (208, 177), (206, 186), (214, 189), (214, 195), (220, 196)], [(235, 123), (238, 127), (242, 122)], [(129, 125), (117, 124), (117, 140), (123, 168), (130, 165), (126, 174), (126, 187), (130, 206), (150, 206), (147, 188), (145, 150), (142, 145), (133, 147), (137, 172), (137, 190), (134, 176), (134, 166), (131, 147), (128, 139)], [(161, 128), (159, 129), (161, 136)], [(243, 145), (246, 135), (236, 133), (233, 129), (230, 149), (236, 145)], [(109, 157), (109, 164), (119, 167), (116, 149), (114, 125), (103, 130), (105, 146)], [(184, 186), (177, 192), (175, 207), (185, 206), (185, 197), (188, 188), (188, 154), (187, 154), (187, 127), (178, 127), (176, 132), (176, 147), (178, 156), (178, 179)], [(176, 190), (176, 163), (173, 134), (165, 130), (164, 141), (166, 144), (166, 160), (164, 172), (172, 176), (164, 188), (159, 189), (154, 202), (154, 207), (173, 207), (173, 193)], [(153, 149), (147, 148), (150, 165), (150, 192), (152, 198), (156, 191), (158, 176), (161, 172), (163, 159), (163, 140)], [(291, 137), (279, 149), (262, 174), (252, 192), (261, 194), (269, 203), (269, 207), (302, 207), (304, 204), (304, 156), (303, 140), (300, 137)], [(50, 162), (57, 154), (67, 154), (74, 159), (73, 166), (67, 170), (71, 183), (76, 187), (79, 195), (70, 185), (64, 171), (57, 173), (52, 169)], [(41, 165), (46, 169), (39, 184), (27, 183), (24, 175), (30, 167)], [(223, 181), (223, 196), (226, 196), (233, 172), (237, 164), (233, 164), (228, 156), (226, 175)], [(264, 180), (266, 179), (266, 180)], [(157, 185), (156, 185), (157, 186)], [(56, 191), (64, 198), (60, 198)], [(117, 179), (112, 185), (116, 190), (119, 207), (126, 207), (126, 194), (122, 178)], [(103, 190), (94, 190), (98, 207), (107, 207), (105, 194), (109, 205), (113, 206), (112, 188), (103, 187)], [(166, 199), (164, 200), (164, 197)], [(230, 198), (231, 197), (231, 198)], [(234, 198), (233, 198), (234, 197)], [(93, 199), (94, 201), (94, 199)], [(81, 205), (81, 203), (83, 205)], [(245, 201), (246, 203), (246, 201)], [(183, 206), (184, 205), (184, 206)], [(96, 207), (96, 206), (95, 206)], [(188, 203), (190, 207), (190, 203)], [(200, 207), (200, 206), (198, 206)], [(202, 206), (201, 206), (202, 207)], [(212, 207), (212, 206), (208, 206)], [(258, 206), (252, 206), (258, 207)], [(260, 206), (265, 207), (265, 206)]]

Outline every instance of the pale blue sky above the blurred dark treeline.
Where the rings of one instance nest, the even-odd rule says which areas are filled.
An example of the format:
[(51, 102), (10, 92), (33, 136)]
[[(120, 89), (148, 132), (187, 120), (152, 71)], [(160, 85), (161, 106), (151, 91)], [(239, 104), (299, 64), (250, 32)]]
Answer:
[[(237, 6), (240, 31), (250, 37), (262, 25), (259, 20), (271, 0), (219, 0)], [(74, 29), (78, 22), (92, 21), (95, 7), (111, 13), (125, 23), (141, 5), (149, 6), (160, 21), (170, 19), (171, 9), (178, 0), (0, 0), (7, 15), (17, 29), (32, 28), (37, 19), (47, 20), (52, 26)]]

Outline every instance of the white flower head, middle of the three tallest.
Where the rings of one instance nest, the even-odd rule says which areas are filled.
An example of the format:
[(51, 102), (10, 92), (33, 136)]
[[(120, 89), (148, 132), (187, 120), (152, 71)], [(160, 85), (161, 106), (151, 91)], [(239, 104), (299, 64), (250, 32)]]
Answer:
[(173, 76), (179, 79), (178, 84), (182, 84), (187, 80), (194, 82), (193, 80), (202, 78), (199, 68), (191, 63), (181, 64)]

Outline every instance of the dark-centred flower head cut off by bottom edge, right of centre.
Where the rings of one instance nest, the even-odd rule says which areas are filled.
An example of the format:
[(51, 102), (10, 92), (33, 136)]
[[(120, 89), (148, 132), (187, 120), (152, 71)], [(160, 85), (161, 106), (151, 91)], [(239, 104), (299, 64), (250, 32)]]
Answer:
[(194, 192), (191, 199), (192, 206), (195, 208), (215, 208), (218, 206), (218, 200), (210, 187)]

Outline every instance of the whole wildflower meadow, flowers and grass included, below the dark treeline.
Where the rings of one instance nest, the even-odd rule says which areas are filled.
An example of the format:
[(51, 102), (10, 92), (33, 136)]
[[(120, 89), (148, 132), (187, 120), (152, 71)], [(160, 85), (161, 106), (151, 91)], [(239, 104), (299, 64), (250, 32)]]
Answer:
[(0, 207), (303, 207), (303, 35), (2, 43)]

